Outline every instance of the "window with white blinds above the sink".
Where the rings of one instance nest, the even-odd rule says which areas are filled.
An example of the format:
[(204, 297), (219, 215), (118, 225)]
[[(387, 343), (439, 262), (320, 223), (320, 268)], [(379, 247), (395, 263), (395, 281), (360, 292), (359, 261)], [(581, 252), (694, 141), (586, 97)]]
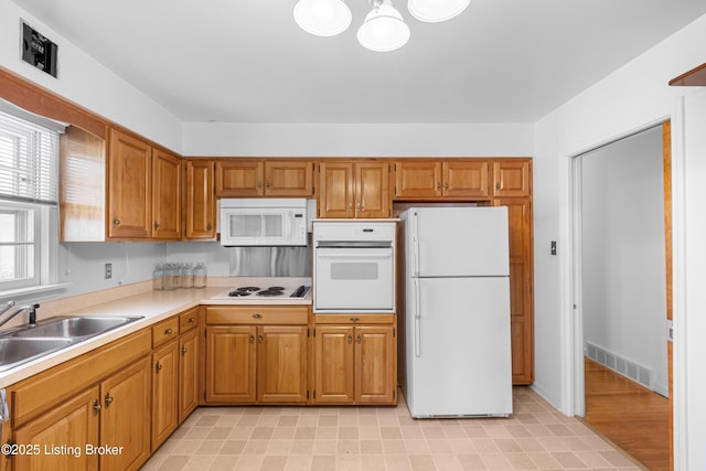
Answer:
[(0, 291), (53, 281), (57, 163), (56, 130), (0, 111)]

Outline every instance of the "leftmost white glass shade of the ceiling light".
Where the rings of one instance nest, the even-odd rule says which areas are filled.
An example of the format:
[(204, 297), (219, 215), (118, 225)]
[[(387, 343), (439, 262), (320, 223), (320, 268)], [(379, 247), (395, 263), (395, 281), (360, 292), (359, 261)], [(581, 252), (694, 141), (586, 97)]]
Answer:
[(343, 0), (299, 0), (295, 4), (299, 28), (317, 36), (334, 36), (351, 24), (351, 10)]

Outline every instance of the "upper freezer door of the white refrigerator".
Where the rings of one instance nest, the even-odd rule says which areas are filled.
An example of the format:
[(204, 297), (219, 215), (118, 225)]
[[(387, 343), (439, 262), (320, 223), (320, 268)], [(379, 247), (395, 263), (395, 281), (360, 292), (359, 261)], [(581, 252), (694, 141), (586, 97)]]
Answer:
[(406, 225), (411, 276), (505, 276), (507, 208), (419, 207)]

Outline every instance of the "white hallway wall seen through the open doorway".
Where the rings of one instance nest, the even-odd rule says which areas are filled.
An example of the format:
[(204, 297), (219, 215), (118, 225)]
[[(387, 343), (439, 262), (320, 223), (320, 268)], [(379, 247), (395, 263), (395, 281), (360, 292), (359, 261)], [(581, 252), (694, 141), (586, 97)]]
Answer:
[(579, 159), (584, 342), (652, 370), (667, 396), (662, 127)]

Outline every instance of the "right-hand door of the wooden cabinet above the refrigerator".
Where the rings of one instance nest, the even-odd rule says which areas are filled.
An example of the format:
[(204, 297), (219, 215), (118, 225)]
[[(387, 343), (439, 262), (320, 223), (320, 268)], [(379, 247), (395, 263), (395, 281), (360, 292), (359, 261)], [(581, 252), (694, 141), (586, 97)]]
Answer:
[(488, 161), (443, 162), (443, 196), (454, 199), (488, 199), (490, 165)]

